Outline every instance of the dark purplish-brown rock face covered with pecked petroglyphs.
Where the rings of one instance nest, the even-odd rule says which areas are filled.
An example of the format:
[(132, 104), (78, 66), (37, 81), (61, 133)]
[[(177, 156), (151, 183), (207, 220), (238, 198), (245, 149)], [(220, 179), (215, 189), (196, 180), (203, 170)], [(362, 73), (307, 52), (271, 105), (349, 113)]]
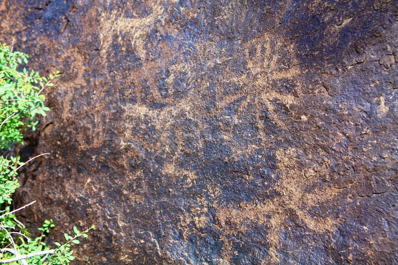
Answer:
[(0, 11), (63, 72), (18, 201), (94, 223), (81, 264), (398, 263), (398, 1)]

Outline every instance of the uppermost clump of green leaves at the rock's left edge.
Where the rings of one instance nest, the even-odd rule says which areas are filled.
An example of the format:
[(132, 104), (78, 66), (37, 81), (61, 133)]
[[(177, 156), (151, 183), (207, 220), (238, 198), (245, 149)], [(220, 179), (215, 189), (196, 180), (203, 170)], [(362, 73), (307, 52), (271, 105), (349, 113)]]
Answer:
[(44, 105), (41, 92), (54, 86), (52, 81), (61, 74), (56, 71), (46, 78), (33, 70), (29, 73), (26, 68), (18, 72), (18, 64), (27, 64), (28, 57), (0, 44), (0, 149), (23, 144), (23, 130), (36, 130), (35, 116), (46, 116), (50, 110)]

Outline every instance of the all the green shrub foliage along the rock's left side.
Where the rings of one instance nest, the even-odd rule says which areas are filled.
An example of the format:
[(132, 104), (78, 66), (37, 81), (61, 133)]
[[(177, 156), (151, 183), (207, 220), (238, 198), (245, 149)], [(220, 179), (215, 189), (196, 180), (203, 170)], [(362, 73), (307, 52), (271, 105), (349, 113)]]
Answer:
[(55, 246), (50, 248), (45, 237), (55, 226), (53, 220), (45, 220), (38, 228), (41, 235), (32, 239), (15, 213), (34, 202), (18, 209), (13, 209), (12, 204), (12, 194), (19, 187), (18, 170), (25, 163), (17, 154), (14, 157), (4, 154), (23, 144), (26, 130), (36, 130), (37, 117), (45, 116), (49, 110), (44, 104), (42, 91), (52, 87), (52, 81), (60, 75), (57, 71), (46, 78), (33, 70), (29, 72), (22, 68), (22, 64), (28, 63), (28, 58), (27, 54), (12, 51), (0, 43), (0, 264), (69, 264), (75, 259), (71, 245), (79, 244), (77, 238), (87, 237), (87, 232), (94, 226), (83, 232), (74, 226), (71, 235), (64, 234), (63, 244), (55, 242)]

